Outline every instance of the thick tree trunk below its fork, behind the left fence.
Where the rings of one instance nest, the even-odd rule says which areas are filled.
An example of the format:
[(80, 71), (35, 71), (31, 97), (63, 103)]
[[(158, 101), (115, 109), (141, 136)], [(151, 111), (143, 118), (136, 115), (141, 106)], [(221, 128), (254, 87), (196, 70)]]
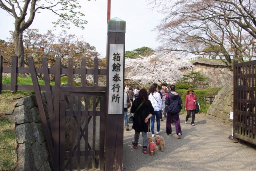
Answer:
[(13, 32), (13, 40), (14, 40), (14, 47), (15, 47), (15, 54), (18, 56), (18, 67), (24, 67), (24, 46), (23, 46), (23, 31), (15, 30)]

